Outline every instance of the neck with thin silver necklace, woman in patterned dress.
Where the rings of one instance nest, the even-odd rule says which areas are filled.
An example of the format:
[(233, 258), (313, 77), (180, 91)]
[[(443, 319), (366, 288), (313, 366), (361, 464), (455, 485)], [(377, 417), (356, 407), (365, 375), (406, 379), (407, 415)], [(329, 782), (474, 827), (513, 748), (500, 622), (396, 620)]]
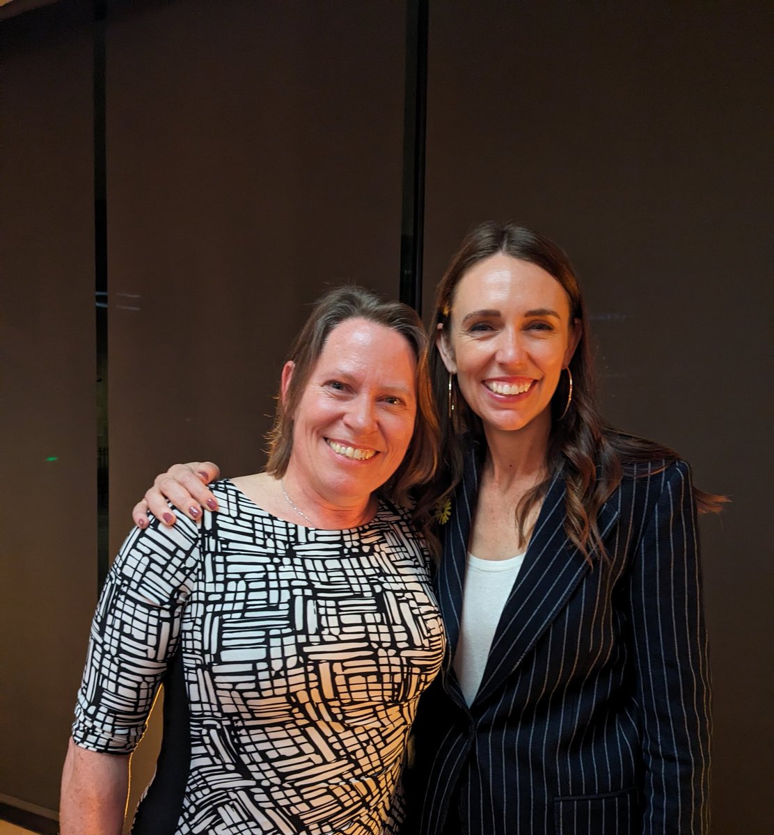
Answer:
[(376, 513), (377, 502), (371, 493), (366, 496), (322, 496), (308, 483), (296, 478), (291, 465), (282, 478), (276, 478), (276, 483), (298, 524), (311, 524), (325, 530), (357, 528), (370, 522)]

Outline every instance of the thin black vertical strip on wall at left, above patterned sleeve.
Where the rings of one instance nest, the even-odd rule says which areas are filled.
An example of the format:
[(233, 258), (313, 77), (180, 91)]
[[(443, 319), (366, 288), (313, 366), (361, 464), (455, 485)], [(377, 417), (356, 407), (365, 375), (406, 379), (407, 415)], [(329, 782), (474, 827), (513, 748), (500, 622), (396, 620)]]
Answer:
[(97, 580), (109, 567), (108, 213), (105, 149), (105, 0), (94, 3), (94, 289), (97, 371)]

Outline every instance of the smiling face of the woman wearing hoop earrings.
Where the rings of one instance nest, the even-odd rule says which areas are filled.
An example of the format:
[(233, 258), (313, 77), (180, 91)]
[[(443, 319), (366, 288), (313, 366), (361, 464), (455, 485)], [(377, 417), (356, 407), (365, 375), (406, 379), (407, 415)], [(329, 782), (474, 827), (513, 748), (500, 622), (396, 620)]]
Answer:
[(486, 433), (548, 433), (551, 397), (579, 337), (559, 281), (498, 253), (459, 281), (437, 344)]

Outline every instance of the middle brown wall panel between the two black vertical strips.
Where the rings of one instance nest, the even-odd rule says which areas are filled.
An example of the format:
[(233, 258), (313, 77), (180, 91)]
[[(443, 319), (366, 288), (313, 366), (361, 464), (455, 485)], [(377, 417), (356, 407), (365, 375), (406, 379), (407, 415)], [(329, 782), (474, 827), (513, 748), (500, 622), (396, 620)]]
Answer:
[(326, 286), (397, 296), (404, 26), (401, 3), (356, 0), (109, 22), (112, 550), (170, 463), (262, 467), (282, 362)]

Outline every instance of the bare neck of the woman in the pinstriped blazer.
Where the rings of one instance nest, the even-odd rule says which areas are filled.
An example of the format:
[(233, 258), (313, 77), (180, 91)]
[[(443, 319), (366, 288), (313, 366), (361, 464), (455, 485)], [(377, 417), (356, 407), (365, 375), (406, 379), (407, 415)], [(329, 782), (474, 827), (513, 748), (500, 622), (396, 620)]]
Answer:
[(551, 417), (548, 411), (535, 417), (523, 429), (504, 432), (484, 427), (487, 439), (485, 468), (493, 484), (503, 490), (524, 481), (539, 483), (545, 477), (545, 456), (549, 447)]

